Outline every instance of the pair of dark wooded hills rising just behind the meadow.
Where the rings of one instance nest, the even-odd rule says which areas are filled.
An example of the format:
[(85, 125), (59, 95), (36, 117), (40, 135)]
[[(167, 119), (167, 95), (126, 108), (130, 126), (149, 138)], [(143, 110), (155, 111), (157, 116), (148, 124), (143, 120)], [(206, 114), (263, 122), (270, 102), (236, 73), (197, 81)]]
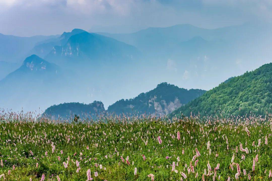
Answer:
[(122, 115), (124, 113), (125, 115), (150, 114), (164, 116), (205, 92), (205, 90), (199, 89), (187, 90), (163, 82), (153, 90), (141, 93), (133, 99), (116, 101), (106, 111), (101, 101), (94, 101), (91, 104), (73, 102), (50, 106), (45, 110), (43, 116), (70, 119), (74, 118), (76, 114), (80, 118), (93, 118), (105, 112), (113, 115)]

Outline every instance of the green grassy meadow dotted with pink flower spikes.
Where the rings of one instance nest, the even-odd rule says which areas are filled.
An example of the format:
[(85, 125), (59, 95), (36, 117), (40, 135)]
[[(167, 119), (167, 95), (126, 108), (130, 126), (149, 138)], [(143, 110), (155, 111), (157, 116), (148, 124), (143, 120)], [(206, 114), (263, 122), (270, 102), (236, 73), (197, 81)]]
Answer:
[(272, 180), (272, 117), (0, 114), (1, 180)]

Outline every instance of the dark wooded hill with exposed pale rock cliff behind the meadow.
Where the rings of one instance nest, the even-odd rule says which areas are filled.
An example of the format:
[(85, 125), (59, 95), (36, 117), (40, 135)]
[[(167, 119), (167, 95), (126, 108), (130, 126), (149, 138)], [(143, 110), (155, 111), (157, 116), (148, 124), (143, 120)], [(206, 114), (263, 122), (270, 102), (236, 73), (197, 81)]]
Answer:
[(205, 90), (184, 89), (166, 82), (158, 84), (156, 88), (141, 93), (133, 99), (121, 99), (108, 107), (107, 112), (122, 114), (169, 114), (180, 106), (204, 94)]

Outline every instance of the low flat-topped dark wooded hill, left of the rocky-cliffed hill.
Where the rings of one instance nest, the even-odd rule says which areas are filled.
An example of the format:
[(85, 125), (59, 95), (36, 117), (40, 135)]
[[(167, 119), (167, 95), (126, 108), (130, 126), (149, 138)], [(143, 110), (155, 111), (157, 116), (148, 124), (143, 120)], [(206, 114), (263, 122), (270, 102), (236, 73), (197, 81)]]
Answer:
[(105, 111), (104, 105), (100, 101), (94, 101), (91, 104), (83, 103), (63, 103), (48, 107), (42, 116), (51, 119), (73, 119), (75, 114), (81, 119), (95, 118)]

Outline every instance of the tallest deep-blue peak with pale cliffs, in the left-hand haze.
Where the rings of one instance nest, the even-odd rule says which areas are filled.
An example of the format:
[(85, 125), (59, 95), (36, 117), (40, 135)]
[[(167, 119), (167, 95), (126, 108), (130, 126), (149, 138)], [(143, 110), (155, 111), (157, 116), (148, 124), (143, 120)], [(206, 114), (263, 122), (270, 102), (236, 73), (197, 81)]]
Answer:
[(97, 63), (132, 61), (138, 54), (138, 50), (131, 45), (84, 31), (70, 36), (63, 46), (54, 46), (45, 59), (58, 65), (91, 63), (94, 66)]

